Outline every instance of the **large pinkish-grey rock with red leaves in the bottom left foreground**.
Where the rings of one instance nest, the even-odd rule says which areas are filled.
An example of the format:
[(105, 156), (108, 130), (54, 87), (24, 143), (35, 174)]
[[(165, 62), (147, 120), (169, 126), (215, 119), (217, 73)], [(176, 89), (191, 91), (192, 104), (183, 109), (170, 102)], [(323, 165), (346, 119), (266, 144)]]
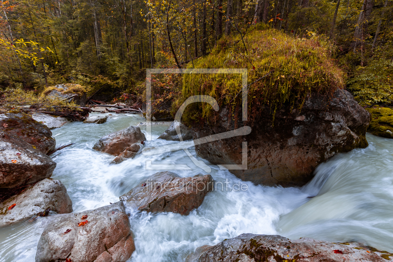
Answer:
[[(78, 224), (83, 221), (87, 224)], [(53, 216), (37, 246), (36, 262), (123, 262), (135, 250), (121, 202), (75, 214)]]

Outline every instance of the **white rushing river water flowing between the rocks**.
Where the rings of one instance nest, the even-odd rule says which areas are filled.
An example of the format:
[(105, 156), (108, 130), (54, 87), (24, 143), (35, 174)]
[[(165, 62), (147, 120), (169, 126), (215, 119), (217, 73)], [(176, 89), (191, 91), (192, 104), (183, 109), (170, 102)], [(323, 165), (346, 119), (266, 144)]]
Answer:
[[(124, 114), (104, 124), (72, 122), (52, 130), (57, 146), (75, 142), (53, 158), (57, 167), (52, 175), (66, 186), (74, 212), (117, 202), (141, 180), (160, 172), (146, 170), (146, 161), (187, 164), (192, 170), (173, 171), (182, 177), (206, 174), (183, 150), (140, 154), (117, 165), (109, 164), (113, 156), (92, 150), (101, 136), (144, 121), (140, 115)], [(147, 146), (174, 143), (156, 139), (169, 125), (152, 125), (153, 140)], [(145, 126), (140, 127), (145, 132)], [(302, 188), (253, 185), (204, 160), (215, 181), (229, 182), (228, 190), (225, 183), (224, 190), (219, 185), (188, 216), (127, 209), (136, 245), (130, 261), (183, 262), (198, 246), (242, 233), (358, 241), (393, 252), (393, 139), (367, 134), (367, 141), (369, 147), (338, 154), (319, 165), (314, 179)], [(189, 151), (196, 156), (194, 149)], [(248, 189), (237, 190), (239, 183)], [(49, 220), (40, 217), (0, 229), (0, 261), (34, 261)]]

